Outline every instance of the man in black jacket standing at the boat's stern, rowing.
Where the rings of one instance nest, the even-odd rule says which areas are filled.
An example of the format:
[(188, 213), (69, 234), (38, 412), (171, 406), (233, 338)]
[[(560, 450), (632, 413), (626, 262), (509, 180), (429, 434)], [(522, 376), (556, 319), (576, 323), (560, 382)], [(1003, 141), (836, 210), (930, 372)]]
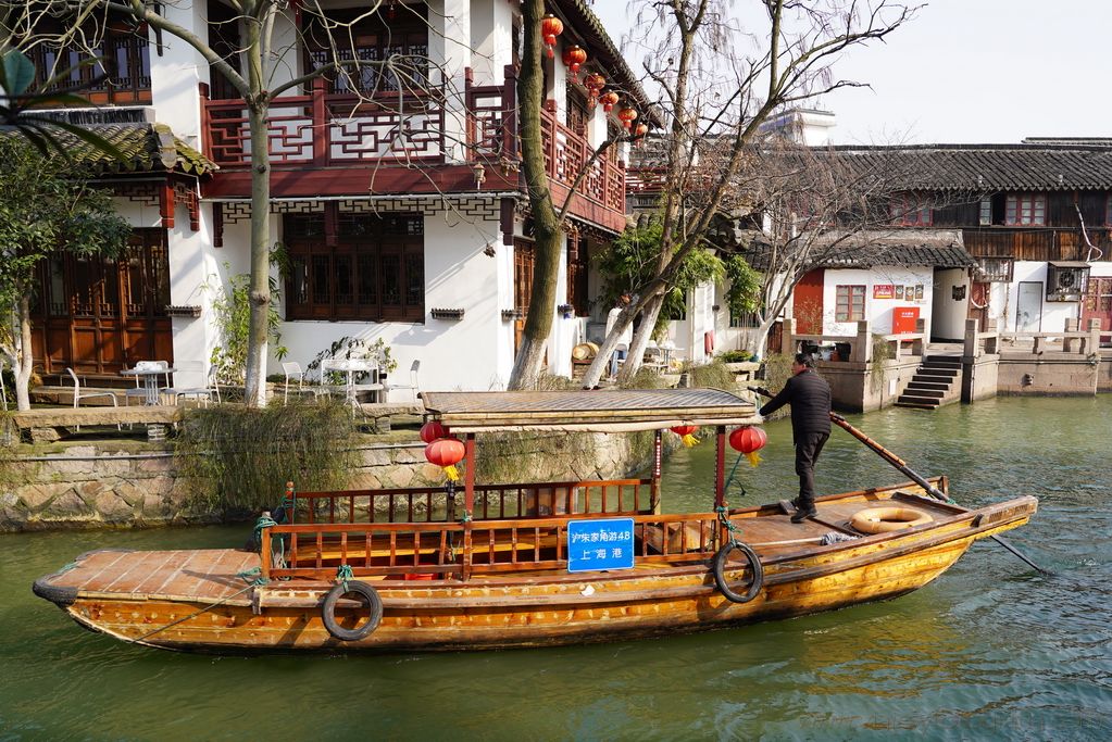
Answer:
[(792, 441), (795, 443), (795, 473), (800, 475), (800, 497), (792, 500), (793, 523), (813, 518), (815, 510), (815, 461), (831, 437), (831, 385), (815, 373), (810, 353), (796, 353), (792, 361), (792, 378), (772, 400), (761, 408), (771, 414), (792, 405)]

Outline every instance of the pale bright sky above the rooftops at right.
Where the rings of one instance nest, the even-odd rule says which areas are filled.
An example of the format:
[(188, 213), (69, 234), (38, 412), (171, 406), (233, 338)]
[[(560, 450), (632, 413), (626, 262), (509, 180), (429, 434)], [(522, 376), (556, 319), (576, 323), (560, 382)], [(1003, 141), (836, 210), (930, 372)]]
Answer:
[[(620, 43), (626, 2), (594, 9)], [(836, 64), (835, 77), (871, 89), (808, 108), (835, 114), (840, 144), (1112, 137), (1110, 52), (1112, 0), (932, 0), (886, 42)], [(639, 56), (628, 61), (639, 71)]]

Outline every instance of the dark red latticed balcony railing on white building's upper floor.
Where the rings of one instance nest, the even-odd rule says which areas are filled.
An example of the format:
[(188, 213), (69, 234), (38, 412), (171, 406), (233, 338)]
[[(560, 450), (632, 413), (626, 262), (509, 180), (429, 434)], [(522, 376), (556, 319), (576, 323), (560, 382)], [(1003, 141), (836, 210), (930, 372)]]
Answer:
[[(420, 96), (383, 92), (370, 101), (328, 92), (315, 80), (302, 96), (270, 106), (268, 141), (275, 198), (393, 193), (523, 191), (518, 167), (516, 80), (476, 86), (467, 76), (463, 100), (433, 89)], [(251, 140), (242, 100), (208, 100), (201, 88), (205, 153), (220, 172), (205, 187), (210, 198), (250, 194)], [(460, 106), (460, 102), (463, 103)], [(557, 203), (568, 193), (592, 147), (543, 111), (545, 164)], [(476, 186), (474, 166), (485, 166)], [(620, 230), (625, 168), (600, 158), (579, 184), (570, 212)]]

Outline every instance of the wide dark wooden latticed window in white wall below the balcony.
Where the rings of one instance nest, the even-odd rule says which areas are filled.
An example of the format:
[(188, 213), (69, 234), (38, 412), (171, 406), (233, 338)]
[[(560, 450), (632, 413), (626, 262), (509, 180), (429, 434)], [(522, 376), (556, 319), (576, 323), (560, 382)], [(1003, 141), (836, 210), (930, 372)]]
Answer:
[(289, 214), (287, 319), (420, 322), (425, 222), (420, 214)]

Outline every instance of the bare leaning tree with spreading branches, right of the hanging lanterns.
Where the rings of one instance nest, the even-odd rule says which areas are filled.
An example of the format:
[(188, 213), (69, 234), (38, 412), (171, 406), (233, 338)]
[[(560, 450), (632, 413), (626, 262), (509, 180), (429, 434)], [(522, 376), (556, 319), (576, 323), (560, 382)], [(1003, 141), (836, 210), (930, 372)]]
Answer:
[[(659, 168), (663, 244), (656, 277), (618, 318), (584, 385), (598, 383), (618, 337), (639, 313), (622, 372), (624, 379), (636, 373), (663, 292), (684, 257), (706, 244), (721, 210), (738, 205), (731, 199), (761, 126), (784, 107), (860, 84), (834, 78), (834, 62), (856, 46), (884, 39), (915, 11), (888, 0), (761, 0), (749, 6), (759, 9), (759, 20), (743, 29), (732, 6), (646, 0), (638, 13), (645, 73), (661, 91), (669, 121)], [(711, 169), (701, 152), (714, 148), (722, 156)]]

